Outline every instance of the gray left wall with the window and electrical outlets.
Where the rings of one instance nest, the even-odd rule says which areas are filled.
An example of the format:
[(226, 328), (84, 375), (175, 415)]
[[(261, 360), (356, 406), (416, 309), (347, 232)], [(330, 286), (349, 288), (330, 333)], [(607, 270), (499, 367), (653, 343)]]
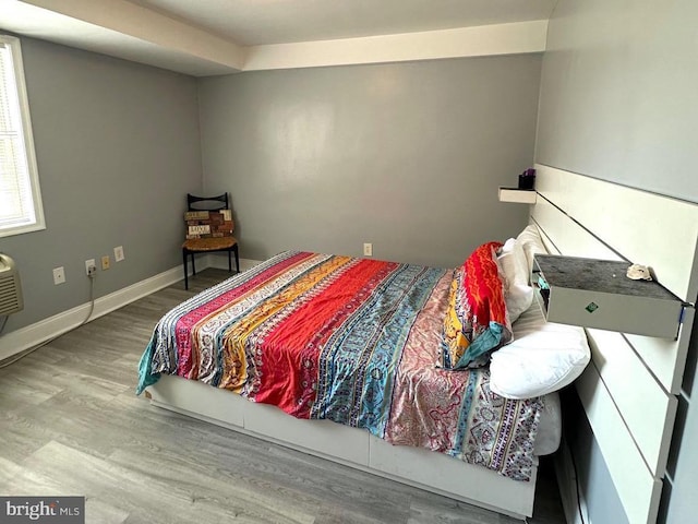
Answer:
[(8, 332), (87, 302), (87, 259), (112, 259), (97, 297), (180, 264), (183, 195), (202, 187), (193, 78), (21, 41), (47, 228), (0, 238), (25, 298)]

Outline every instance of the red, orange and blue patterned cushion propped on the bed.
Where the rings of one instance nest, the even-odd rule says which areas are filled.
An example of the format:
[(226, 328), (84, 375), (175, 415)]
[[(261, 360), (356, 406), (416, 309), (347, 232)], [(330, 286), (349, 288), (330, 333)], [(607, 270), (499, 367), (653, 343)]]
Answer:
[(501, 247), (500, 242), (483, 243), (454, 274), (440, 348), (442, 368), (484, 366), (494, 349), (512, 340), (496, 261)]

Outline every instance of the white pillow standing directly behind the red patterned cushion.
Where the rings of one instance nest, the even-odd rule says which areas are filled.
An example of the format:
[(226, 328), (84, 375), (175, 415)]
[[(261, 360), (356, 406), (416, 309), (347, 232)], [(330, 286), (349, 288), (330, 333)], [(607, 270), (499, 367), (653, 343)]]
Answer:
[(509, 238), (504, 243), (497, 261), (506, 276), (504, 301), (509, 313), (509, 321), (516, 322), (533, 301), (533, 288), (528, 285), (526, 254), (519, 242)]

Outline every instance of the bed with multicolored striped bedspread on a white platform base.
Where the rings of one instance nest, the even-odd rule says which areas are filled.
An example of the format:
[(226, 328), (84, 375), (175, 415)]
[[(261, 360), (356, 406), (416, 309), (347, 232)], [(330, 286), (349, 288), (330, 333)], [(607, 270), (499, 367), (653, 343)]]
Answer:
[[(476, 253), (489, 252), (502, 276), (503, 246), (481, 248), (464, 267)], [(474, 273), (471, 267), (468, 274)], [(581, 372), (588, 347), (587, 355), (583, 347), (578, 352), (565, 380), (557, 377), (532, 394), (497, 394), (483, 364), (512, 336), (526, 341), (519, 335), (538, 331), (544, 319), (528, 300), (512, 325), (503, 307), (501, 321), (510, 336), (495, 341), (493, 349), (478, 345), (485, 348), (476, 355), (479, 360), (455, 366), (464, 360), (444, 359), (455, 355), (443, 342), (445, 319), (457, 275), (465, 274), (280, 253), (168, 312), (142, 358), (139, 393), (146, 391), (160, 407), (530, 516), (537, 456), (554, 452), (559, 442), (554, 391)], [(481, 294), (492, 282), (509, 284), (505, 275), (473, 281), (469, 288), (482, 284)], [(471, 326), (478, 332), (473, 341), (492, 335), (492, 323)], [(506, 369), (505, 360), (497, 360), (498, 368)]]

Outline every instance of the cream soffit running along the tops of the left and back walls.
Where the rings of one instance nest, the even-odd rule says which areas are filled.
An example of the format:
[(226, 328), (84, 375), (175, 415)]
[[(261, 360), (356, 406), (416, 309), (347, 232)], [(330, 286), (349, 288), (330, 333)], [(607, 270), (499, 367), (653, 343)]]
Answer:
[[(12, 20), (23, 20), (8, 26), (11, 31), (194, 76), (543, 52), (547, 37), (547, 20), (534, 20), (244, 47), (127, 0), (24, 0), (11, 4)], [(50, 28), (50, 16), (61, 16), (62, 33)]]

